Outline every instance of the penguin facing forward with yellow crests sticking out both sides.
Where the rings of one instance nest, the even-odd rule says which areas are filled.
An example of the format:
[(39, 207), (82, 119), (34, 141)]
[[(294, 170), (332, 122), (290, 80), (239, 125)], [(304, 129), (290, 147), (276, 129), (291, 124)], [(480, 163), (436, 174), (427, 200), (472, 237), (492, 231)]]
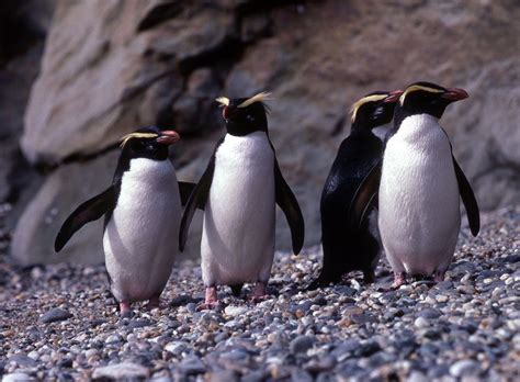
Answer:
[(274, 258), (275, 204), (291, 228), (294, 254), (304, 241), (298, 202), (282, 176), (268, 132), (267, 100), (216, 99), (223, 105), (226, 134), (218, 141), (181, 221), (183, 249), (195, 209), (204, 210), (201, 267), (205, 302), (218, 305), (217, 286), (229, 285), (238, 295), (244, 283), (255, 282), (251, 300), (263, 299)]

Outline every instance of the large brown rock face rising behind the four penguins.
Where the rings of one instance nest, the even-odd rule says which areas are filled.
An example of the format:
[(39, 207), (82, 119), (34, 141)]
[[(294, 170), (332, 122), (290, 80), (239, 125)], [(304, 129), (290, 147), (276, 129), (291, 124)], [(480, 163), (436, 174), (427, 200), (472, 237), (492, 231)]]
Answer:
[[(63, 166), (102, 151), (137, 126), (157, 124), (181, 132), (172, 158), (179, 178), (194, 181), (224, 134), (215, 96), (270, 90), (271, 138), (302, 204), (309, 245), (320, 238), (319, 195), (348, 134), (350, 103), (375, 89), (430, 80), (471, 94), (442, 123), (482, 207), (520, 202), (515, 1), (281, 3), (58, 0), (25, 114), (24, 155), (34, 165)], [(81, 166), (84, 176), (95, 167)], [(114, 166), (98, 169), (100, 179), (109, 179)], [(57, 180), (60, 171), (20, 221), (13, 255), (23, 262), (34, 261), (24, 251), (48, 249), (53, 239), (37, 229), (24, 233), (24, 222), (45, 224), (27, 214), (48, 196), (47, 183), (61, 184), (55, 192), (67, 199), (64, 209), (83, 200), (72, 181)], [(196, 229), (192, 236), (189, 248), (196, 255)], [(280, 211), (276, 239), (290, 247)], [(71, 256), (82, 260), (90, 246), (75, 250)]]

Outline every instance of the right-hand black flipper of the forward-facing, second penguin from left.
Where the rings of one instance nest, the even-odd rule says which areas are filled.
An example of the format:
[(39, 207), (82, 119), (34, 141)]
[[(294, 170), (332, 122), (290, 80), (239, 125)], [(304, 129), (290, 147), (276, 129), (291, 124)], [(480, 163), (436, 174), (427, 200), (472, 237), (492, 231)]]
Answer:
[(283, 179), (278, 160), (274, 160), (274, 190), (276, 204), (285, 214), (289, 227), (291, 228), (293, 252), (298, 255), (305, 238), (305, 223), (298, 201), (285, 179)]

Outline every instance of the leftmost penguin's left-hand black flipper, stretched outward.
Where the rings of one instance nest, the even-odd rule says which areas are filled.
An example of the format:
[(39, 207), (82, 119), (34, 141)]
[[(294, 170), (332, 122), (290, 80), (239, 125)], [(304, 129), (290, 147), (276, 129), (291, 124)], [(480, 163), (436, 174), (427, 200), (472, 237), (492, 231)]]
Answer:
[(99, 195), (78, 206), (61, 225), (54, 241), (54, 249), (59, 252), (78, 229), (87, 223), (97, 221), (110, 209), (113, 209), (115, 199), (115, 187), (111, 186)]

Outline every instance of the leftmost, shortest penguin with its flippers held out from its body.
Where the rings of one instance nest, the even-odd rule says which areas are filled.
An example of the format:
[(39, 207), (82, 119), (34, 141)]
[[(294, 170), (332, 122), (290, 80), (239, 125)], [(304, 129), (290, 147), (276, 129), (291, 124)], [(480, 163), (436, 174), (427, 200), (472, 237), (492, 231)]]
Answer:
[(168, 158), (169, 146), (179, 139), (177, 132), (157, 127), (124, 136), (112, 184), (78, 206), (56, 236), (58, 252), (84, 224), (104, 215), (105, 266), (122, 316), (131, 315), (133, 302), (159, 306), (178, 255), (181, 195), (185, 202), (194, 189), (178, 183)]

